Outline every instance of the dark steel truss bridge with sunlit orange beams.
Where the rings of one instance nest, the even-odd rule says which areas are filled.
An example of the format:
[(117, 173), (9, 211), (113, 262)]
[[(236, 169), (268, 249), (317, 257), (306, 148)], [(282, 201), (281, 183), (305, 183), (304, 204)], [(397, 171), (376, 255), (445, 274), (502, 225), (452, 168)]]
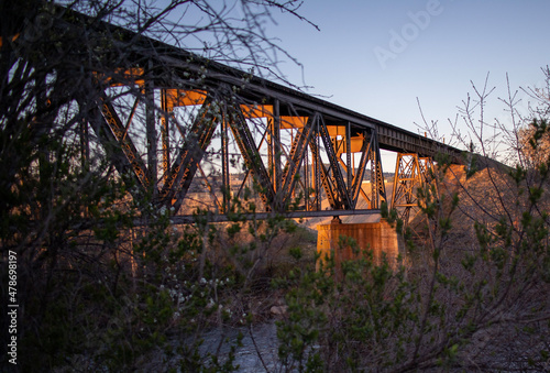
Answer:
[[(191, 217), (197, 205), (189, 200), (197, 188), (207, 190), (202, 202), (209, 200), (208, 208), (223, 219), (250, 180), (261, 199), (254, 212), (263, 216), (378, 212), (388, 199), (381, 150), (398, 153), (392, 206), (408, 216), (416, 206), (414, 188), (426, 180), (431, 160), (443, 153), (460, 162), (455, 147), (182, 48), (117, 32), (123, 36), (102, 53), (123, 51), (128, 58), (90, 74), (96, 95), (78, 99), (80, 110), (89, 112), (82, 146), (89, 152), (95, 136), (118, 173), (141, 193), (152, 193), (158, 206), (173, 208), (175, 221)], [(245, 171), (235, 176), (241, 162)]]

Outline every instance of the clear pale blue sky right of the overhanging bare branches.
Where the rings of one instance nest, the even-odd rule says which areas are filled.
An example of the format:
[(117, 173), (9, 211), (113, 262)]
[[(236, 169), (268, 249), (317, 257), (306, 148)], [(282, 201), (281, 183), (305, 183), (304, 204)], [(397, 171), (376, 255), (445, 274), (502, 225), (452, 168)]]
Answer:
[[(503, 119), (506, 73), (514, 89), (540, 86), (550, 64), (548, 0), (306, 0), (300, 12), (320, 31), (277, 14), (268, 31), (304, 65), (308, 92), (414, 132), (417, 98), (449, 136), (471, 80), (481, 87), (490, 74), (488, 116)], [(290, 63), (282, 69), (304, 84)]]

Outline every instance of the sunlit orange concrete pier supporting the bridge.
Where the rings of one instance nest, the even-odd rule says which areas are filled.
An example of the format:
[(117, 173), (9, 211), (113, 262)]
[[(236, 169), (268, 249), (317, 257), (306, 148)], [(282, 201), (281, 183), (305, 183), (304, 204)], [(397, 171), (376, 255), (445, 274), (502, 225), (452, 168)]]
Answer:
[[(342, 261), (358, 257), (364, 250), (373, 251), (373, 257), (377, 264), (382, 263), (382, 255), (385, 253), (389, 264), (395, 267), (397, 256), (405, 252), (403, 238), (385, 219), (378, 222), (345, 224), (336, 217), (330, 224), (317, 226), (317, 252), (323, 259), (333, 250), (337, 267), (340, 267)], [(338, 241), (341, 235), (354, 239), (359, 253), (353, 252), (350, 246), (339, 248)]]

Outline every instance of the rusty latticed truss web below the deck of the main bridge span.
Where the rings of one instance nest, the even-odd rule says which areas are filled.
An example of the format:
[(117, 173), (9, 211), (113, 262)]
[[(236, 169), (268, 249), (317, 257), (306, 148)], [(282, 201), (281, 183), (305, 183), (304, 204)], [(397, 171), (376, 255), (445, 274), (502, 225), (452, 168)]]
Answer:
[[(248, 180), (255, 185), (262, 201), (258, 212), (334, 210), (338, 213), (359, 208), (360, 197), (366, 202), (361, 209), (378, 209), (380, 201), (386, 199), (374, 128), (333, 122), (320, 112), (278, 100), (258, 106), (228, 103), (216, 97), (219, 95), (206, 90), (148, 90), (143, 95), (146, 101), (143, 124), (134, 116), (140, 98), (130, 113), (125, 113), (124, 123), (114, 99), (106, 92), (98, 103), (100, 119), (90, 124), (106, 149), (118, 150), (111, 151), (118, 172), (132, 175), (142, 191), (152, 193), (154, 201), (173, 207), (178, 215), (193, 212), (186, 202), (191, 189), (194, 194), (208, 193), (210, 197), (205, 195), (201, 199), (216, 201), (211, 209), (227, 213), (231, 196), (239, 189), (240, 197)], [(175, 110), (188, 107), (195, 108), (195, 114), (177, 121)], [(141, 141), (146, 145), (141, 146), (141, 152), (134, 144), (136, 131), (133, 134), (129, 131), (132, 125), (145, 129), (146, 139)], [(161, 144), (156, 139), (157, 128)], [(230, 160), (235, 158), (235, 151), (238, 162), (246, 169), (240, 187), (232, 180), (239, 173), (238, 165)], [(208, 152), (221, 161), (213, 172), (216, 167), (210, 161), (202, 165)], [(200, 185), (191, 188), (197, 178)], [(364, 189), (365, 183), (370, 184), (370, 193)]]

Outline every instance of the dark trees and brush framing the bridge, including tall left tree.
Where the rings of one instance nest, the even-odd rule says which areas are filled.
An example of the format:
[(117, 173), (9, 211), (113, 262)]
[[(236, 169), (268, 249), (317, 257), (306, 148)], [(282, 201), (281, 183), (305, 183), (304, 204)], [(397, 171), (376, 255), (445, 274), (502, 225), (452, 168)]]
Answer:
[[(132, 17), (109, 1), (94, 7), (98, 20)], [(3, 40), (21, 14), (41, 10), (48, 11), (2, 21)], [(44, 26), (42, 37), (2, 44), (0, 64), (0, 244), (3, 268), (16, 253), (21, 371), (234, 371), (240, 340), (204, 352), (205, 333), (221, 330), (221, 347), (233, 328), (270, 318), (280, 299), (276, 371), (549, 369), (550, 158), (540, 157), (548, 92), (538, 111), (514, 122), (514, 134), (526, 133), (510, 144), (516, 167), (468, 160), (469, 180), (484, 173), (483, 188), (461, 178), (446, 187), (451, 171), (438, 160), (435, 184), (418, 190), (424, 227), (405, 232), (407, 266), (375, 263), (366, 251), (343, 263), (336, 282), (330, 257), (315, 271), (302, 245), (310, 233), (284, 217), (246, 219), (255, 210), (248, 197), (230, 200), (227, 224), (197, 211), (194, 224), (174, 228), (169, 209), (136, 193), (105, 151), (82, 156), (78, 135), (90, 112), (74, 101), (89, 74), (110, 65), (91, 57), (98, 41), (70, 45), (68, 33), (67, 46), (48, 23), (33, 25)], [(73, 52), (89, 53), (91, 66), (55, 58)], [(470, 109), (463, 116), (473, 123)], [(2, 299), (8, 276), (3, 270)], [(11, 366), (7, 353), (1, 359)]]

